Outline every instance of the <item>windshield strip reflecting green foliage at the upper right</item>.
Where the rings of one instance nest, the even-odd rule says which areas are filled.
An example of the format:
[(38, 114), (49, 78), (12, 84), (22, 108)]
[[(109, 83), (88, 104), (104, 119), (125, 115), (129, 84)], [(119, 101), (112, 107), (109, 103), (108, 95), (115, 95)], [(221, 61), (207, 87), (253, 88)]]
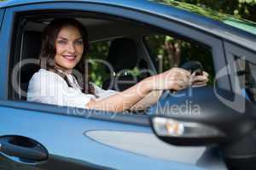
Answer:
[(238, 29), (241, 29), (243, 31), (247, 31), (256, 35), (256, 23), (250, 20), (244, 20), (230, 14), (218, 13), (217, 11), (214, 11), (212, 9), (201, 8), (189, 3), (176, 2), (173, 0), (149, 0), (149, 1), (155, 2), (155, 3), (162, 3), (167, 6), (172, 6), (175, 8), (181, 8), (183, 10), (187, 10), (195, 14), (201, 14), (203, 16), (206, 16), (207, 18), (211, 18), (212, 20), (218, 20), (226, 25), (234, 26)]

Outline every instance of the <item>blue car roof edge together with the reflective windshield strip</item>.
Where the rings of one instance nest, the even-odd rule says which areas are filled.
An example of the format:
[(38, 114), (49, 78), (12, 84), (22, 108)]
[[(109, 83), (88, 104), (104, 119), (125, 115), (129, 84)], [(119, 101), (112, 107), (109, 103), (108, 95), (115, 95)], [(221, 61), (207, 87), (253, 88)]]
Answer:
[(213, 34), (214, 36), (236, 42), (253, 51), (256, 50), (255, 23), (237, 19), (228, 14), (220, 14), (206, 8), (200, 8), (188, 3), (178, 3), (172, 0), (164, 1), (168, 2), (164, 4), (158, 3), (158, 0), (8, 0), (0, 3), (0, 8), (49, 2), (90, 2), (119, 6), (121, 8), (132, 8), (170, 20), (177, 20), (178, 22), (198, 28), (201, 31)]

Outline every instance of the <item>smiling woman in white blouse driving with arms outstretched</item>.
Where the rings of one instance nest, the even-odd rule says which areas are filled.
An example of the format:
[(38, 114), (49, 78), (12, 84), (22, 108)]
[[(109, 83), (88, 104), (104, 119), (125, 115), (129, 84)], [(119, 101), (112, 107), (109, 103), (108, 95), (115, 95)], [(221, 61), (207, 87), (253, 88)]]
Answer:
[[(44, 30), (39, 56), (41, 69), (29, 82), (27, 100), (102, 111), (125, 111), (155, 90), (177, 91), (194, 82), (205, 84), (208, 81), (206, 72), (195, 76), (181, 68), (172, 68), (123, 92), (103, 90), (86, 83), (84, 57), (88, 51), (87, 32), (79, 21), (51, 21)], [(78, 72), (81, 74), (75, 74)]]

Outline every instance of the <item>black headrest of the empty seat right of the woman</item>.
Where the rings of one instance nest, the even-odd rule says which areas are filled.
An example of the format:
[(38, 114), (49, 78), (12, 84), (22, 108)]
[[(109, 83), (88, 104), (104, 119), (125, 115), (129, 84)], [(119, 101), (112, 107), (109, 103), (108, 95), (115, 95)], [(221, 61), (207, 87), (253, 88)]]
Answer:
[(137, 44), (130, 38), (117, 38), (111, 42), (108, 52), (108, 62), (113, 71), (133, 69), (137, 65)]

